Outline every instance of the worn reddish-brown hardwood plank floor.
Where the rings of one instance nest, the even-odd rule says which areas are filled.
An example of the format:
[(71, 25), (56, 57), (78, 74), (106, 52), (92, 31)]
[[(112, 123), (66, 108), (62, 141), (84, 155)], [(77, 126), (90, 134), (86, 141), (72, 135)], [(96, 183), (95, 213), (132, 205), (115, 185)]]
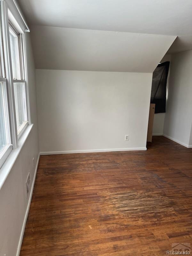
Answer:
[(192, 244), (192, 149), (41, 156), (20, 256), (164, 256)]

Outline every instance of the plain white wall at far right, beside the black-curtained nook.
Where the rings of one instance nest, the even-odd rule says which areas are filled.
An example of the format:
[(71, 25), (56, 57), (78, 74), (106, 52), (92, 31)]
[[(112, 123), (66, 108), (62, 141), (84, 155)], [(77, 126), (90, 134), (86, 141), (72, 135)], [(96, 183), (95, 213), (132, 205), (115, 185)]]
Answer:
[(172, 54), (164, 135), (189, 145), (192, 124), (192, 51)]

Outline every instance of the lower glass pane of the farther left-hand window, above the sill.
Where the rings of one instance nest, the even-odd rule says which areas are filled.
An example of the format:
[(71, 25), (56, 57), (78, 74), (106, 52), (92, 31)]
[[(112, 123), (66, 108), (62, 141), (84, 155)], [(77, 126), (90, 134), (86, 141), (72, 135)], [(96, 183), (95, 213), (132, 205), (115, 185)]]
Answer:
[(26, 103), (26, 90), (25, 83), (13, 83), (15, 95), (15, 111), (17, 119), (17, 133), (19, 134), (27, 119), (27, 103)]

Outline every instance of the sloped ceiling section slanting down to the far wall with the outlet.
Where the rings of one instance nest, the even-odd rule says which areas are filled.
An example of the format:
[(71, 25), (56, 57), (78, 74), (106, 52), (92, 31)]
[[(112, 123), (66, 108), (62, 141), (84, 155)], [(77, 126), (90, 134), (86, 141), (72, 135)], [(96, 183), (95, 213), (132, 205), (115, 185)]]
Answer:
[(36, 68), (153, 72), (175, 36), (32, 26)]

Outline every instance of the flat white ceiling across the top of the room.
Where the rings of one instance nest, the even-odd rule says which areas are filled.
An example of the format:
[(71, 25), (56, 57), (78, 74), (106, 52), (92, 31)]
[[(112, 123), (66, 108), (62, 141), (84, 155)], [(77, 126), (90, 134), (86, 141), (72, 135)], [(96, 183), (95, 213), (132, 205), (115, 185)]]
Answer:
[(30, 25), (175, 35), (192, 49), (192, 0), (19, 0)]

